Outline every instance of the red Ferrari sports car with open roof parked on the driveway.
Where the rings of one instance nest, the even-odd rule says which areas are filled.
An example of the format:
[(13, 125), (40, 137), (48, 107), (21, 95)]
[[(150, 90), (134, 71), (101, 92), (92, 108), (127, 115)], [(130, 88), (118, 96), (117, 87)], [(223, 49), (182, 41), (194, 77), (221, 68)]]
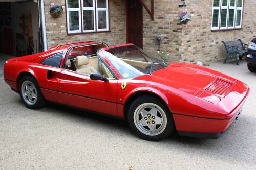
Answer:
[(46, 101), (126, 119), (146, 140), (218, 138), (241, 114), (246, 84), (203, 66), (166, 63), (133, 44), (76, 42), (6, 61), (24, 104)]

